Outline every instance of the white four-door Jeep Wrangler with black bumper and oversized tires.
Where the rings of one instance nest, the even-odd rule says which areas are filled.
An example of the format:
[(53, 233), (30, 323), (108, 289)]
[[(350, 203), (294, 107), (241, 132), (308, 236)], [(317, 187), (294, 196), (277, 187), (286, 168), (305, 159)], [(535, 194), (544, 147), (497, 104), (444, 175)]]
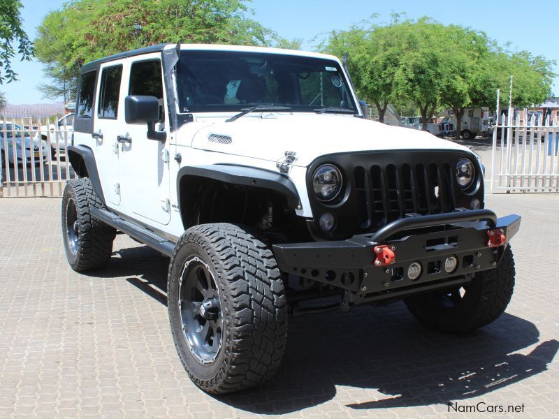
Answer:
[(483, 209), (468, 149), (363, 115), (324, 54), (157, 45), (85, 64), (68, 262), (105, 267), (117, 230), (170, 256), (170, 330), (212, 393), (273, 376), (289, 314), (405, 300), (444, 332), (495, 321), (520, 217)]

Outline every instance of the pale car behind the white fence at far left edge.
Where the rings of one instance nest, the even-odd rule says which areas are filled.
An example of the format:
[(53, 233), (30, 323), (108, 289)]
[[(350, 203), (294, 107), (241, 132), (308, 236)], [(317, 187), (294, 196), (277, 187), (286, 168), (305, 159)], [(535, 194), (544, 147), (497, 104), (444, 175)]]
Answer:
[(0, 150), (2, 162), (7, 158), (10, 164), (14, 163), (14, 154), (17, 164), (39, 163), (41, 156), (43, 163), (48, 159), (47, 143), (31, 138), (29, 131), (12, 122), (0, 122)]

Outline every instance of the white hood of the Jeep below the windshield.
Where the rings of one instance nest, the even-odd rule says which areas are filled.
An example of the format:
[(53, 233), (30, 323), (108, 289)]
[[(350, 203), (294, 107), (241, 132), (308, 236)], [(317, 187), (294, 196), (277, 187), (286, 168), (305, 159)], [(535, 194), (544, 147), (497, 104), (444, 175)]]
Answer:
[[(210, 141), (210, 134), (231, 137)], [(388, 126), (341, 115), (246, 115), (234, 122), (209, 124), (194, 135), (192, 147), (226, 154), (278, 161), (296, 152), (295, 166), (306, 167), (325, 154), (393, 149), (467, 148), (425, 131)]]

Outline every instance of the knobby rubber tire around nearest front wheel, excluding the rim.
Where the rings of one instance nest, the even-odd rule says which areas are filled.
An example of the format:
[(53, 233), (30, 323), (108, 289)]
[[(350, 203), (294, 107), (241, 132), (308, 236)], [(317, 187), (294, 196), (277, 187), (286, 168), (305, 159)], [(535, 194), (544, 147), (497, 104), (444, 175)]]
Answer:
[[(195, 242), (208, 254), (217, 255), (219, 260), (215, 262), (226, 272), (224, 279), (228, 281), (233, 308), (233, 342), (222, 347), (229, 351), (228, 364), (221, 367), (215, 378), (201, 380), (189, 372), (181, 357), (191, 380), (213, 394), (251, 388), (268, 380), (282, 361), (287, 335), (284, 288), (272, 251), (240, 226), (194, 226), (175, 247), (169, 263), (169, 281), (177, 249), (187, 242)], [(173, 338), (177, 346), (177, 339)]]

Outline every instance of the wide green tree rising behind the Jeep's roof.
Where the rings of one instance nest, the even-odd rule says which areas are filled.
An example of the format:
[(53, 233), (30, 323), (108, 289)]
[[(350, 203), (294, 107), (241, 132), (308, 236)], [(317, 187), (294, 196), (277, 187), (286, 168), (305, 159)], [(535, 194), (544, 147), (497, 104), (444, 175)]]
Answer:
[(82, 64), (148, 45), (270, 45), (275, 33), (247, 17), (250, 11), (245, 0), (70, 1), (38, 27), (36, 57), (53, 80), (41, 89), (62, 96)]

